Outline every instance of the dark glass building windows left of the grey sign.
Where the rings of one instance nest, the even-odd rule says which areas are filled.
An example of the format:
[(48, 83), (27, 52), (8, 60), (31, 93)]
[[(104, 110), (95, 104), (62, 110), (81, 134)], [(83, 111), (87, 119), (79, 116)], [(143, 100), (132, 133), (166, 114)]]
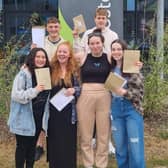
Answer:
[(44, 21), (47, 17), (58, 16), (58, 0), (4, 0), (5, 40), (27, 32), (29, 18), (34, 12)]

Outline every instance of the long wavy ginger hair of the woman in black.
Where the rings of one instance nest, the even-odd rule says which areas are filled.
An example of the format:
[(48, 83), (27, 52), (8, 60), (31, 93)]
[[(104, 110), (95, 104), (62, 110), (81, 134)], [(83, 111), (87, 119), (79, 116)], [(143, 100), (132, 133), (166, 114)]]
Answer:
[(67, 87), (72, 87), (72, 75), (76, 76), (79, 79), (79, 66), (78, 66), (76, 59), (74, 58), (72, 45), (70, 44), (69, 41), (64, 41), (58, 45), (55, 55), (51, 60), (52, 85), (55, 86), (57, 84), (60, 84), (60, 85), (62, 84), (62, 79), (61, 79), (62, 70), (61, 70), (61, 66), (58, 61), (58, 55), (57, 55), (58, 49), (61, 45), (66, 45), (70, 52), (70, 57), (69, 57), (69, 60), (66, 66), (66, 74), (64, 77), (64, 83)]

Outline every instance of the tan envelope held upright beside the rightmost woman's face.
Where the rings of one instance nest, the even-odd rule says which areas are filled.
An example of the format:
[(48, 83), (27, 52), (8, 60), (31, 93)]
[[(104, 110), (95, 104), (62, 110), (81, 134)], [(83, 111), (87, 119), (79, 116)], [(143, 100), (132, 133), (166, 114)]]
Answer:
[(140, 59), (139, 50), (125, 50), (123, 72), (124, 73), (139, 73), (139, 67), (136, 66), (136, 62)]

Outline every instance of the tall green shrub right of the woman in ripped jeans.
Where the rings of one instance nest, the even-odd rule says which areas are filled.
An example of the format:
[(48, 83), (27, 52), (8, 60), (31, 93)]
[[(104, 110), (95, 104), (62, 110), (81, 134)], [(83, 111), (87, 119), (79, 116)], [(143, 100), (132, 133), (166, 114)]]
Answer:
[(165, 27), (164, 49), (150, 43), (149, 59), (144, 61), (145, 116), (166, 111), (168, 105), (168, 26)]

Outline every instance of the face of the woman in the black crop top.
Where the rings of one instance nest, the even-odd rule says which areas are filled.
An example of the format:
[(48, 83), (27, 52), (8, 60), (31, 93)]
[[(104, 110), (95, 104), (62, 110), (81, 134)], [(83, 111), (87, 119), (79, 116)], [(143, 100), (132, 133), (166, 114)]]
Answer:
[(103, 42), (99, 36), (93, 36), (89, 39), (89, 48), (93, 55), (100, 55), (103, 51)]

